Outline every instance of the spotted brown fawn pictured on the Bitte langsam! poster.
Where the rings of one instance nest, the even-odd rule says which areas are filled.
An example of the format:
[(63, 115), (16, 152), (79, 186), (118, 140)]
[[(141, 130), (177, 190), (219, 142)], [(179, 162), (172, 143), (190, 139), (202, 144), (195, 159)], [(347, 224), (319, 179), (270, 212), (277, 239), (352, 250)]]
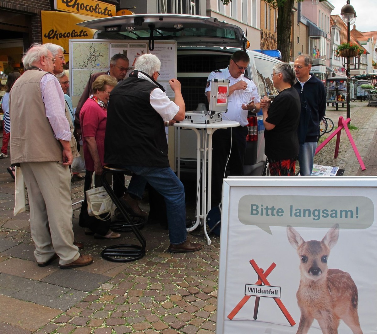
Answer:
[[(331, 227), (322, 241), (305, 241), (290, 225), (287, 226), (287, 236), (300, 259), (301, 278), (296, 297), (301, 317), (297, 334), (308, 333), (314, 319), (324, 334), (338, 333), (340, 320), (352, 333), (362, 334), (355, 282), (349, 273), (327, 267), (330, 249), (339, 238), (339, 224)], [(336, 267), (336, 263), (331, 263), (331, 267)]]

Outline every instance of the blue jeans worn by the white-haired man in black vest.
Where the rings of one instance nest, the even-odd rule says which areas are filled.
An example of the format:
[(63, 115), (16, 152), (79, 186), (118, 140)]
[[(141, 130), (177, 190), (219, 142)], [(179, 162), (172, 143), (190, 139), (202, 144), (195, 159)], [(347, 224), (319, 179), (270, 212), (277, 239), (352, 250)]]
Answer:
[(169, 239), (173, 245), (179, 245), (187, 239), (185, 189), (182, 182), (170, 167), (124, 166), (133, 175), (127, 192), (139, 198), (143, 196), (148, 182), (164, 196), (167, 210)]

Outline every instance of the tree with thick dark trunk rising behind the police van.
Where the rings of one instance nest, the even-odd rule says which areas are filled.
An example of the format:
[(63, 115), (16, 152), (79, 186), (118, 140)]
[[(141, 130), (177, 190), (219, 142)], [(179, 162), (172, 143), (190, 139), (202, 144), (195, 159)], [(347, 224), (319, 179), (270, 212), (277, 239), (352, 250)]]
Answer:
[[(277, 22), (276, 22), (276, 38), (277, 49), (282, 53), (282, 61), (289, 62), (290, 60), (290, 45), (291, 45), (291, 28), (292, 28), (292, 9), (295, 0), (264, 0), (271, 8), (277, 8)], [(297, 0), (302, 2), (304, 0)], [(322, 2), (325, 0), (319, 0)], [(222, 0), (226, 6), (231, 0)]]

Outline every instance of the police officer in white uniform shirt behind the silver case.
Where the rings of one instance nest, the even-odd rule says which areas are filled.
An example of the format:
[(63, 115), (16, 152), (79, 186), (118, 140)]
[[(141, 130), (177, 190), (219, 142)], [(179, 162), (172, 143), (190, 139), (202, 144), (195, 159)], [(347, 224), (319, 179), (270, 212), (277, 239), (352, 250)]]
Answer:
[[(210, 100), (211, 79), (228, 79), (228, 112), (223, 114), (224, 120), (239, 122), (236, 128), (218, 129), (212, 136), (212, 205), (218, 206), (221, 202), (222, 179), (228, 156), (231, 176), (244, 175), (244, 157), (246, 150), (247, 116), (248, 111), (257, 113), (259, 101), (257, 87), (250, 78), (244, 75), (250, 62), (248, 54), (236, 51), (230, 57), (229, 66), (216, 70), (208, 76), (205, 95)], [(247, 104), (251, 99), (254, 101)]]

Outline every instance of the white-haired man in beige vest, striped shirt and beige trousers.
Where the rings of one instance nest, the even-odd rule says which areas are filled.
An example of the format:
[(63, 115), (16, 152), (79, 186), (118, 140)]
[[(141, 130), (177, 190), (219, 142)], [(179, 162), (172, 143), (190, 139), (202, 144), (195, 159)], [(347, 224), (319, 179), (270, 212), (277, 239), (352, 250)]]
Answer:
[(11, 162), (21, 167), (28, 189), (34, 256), (40, 267), (57, 258), (62, 269), (82, 267), (93, 258), (80, 255), (73, 244), (71, 132), (63, 91), (50, 73), (55, 59), (46, 47), (34, 44), (22, 61), (26, 71), (9, 98)]

